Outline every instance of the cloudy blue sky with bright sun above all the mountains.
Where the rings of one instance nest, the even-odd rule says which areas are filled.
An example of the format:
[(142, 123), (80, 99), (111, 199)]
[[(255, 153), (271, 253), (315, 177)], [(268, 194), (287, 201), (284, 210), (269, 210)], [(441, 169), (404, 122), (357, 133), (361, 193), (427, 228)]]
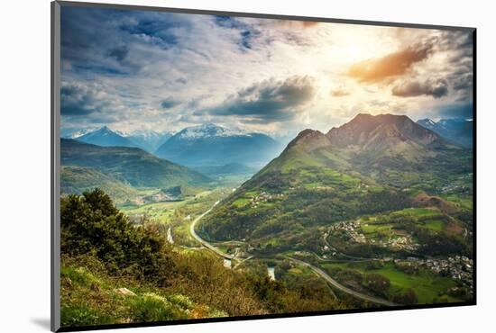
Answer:
[(472, 118), (472, 33), (62, 6), (62, 132)]

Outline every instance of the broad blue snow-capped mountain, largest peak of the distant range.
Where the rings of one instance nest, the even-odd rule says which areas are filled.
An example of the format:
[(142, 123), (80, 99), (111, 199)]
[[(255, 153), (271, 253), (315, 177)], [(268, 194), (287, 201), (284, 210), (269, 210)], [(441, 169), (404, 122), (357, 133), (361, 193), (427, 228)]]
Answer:
[(222, 166), (229, 163), (262, 166), (280, 152), (271, 137), (215, 124), (180, 130), (155, 155), (185, 166)]

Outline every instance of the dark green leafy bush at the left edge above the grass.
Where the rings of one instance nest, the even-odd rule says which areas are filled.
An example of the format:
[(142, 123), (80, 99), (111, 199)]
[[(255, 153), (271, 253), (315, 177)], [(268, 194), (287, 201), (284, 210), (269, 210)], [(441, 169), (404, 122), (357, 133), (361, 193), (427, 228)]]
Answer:
[(76, 257), (93, 253), (118, 272), (129, 266), (142, 275), (158, 275), (165, 239), (157, 230), (134, 226), (99, 189), (60, 200), (61, 253)]

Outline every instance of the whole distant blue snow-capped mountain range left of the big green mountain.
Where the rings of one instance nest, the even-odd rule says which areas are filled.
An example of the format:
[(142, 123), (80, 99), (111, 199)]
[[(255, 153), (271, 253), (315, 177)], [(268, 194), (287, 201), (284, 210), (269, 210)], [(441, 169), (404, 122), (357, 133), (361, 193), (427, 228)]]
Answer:
[[(79, 130), (73, 139), (102, 147), (134, 147), (184, 166), (222, 167), (236, 163), (243, 168), (265, 165), (283, 146), (270, 136), (216, 124), (187, 127), (176, 134), (137, 130), (123, 134), (104, 126)], [(76, 134), (78, 134), (76, 133)], [(69, 135), (73, 137), (74, 135)]]

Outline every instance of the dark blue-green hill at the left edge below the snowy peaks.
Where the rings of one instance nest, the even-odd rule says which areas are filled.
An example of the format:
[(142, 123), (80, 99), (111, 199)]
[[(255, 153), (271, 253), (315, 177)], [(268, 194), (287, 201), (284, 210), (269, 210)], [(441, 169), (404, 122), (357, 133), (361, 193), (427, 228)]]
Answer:
[(133, 187), (171, 187), (207, 183), (205, 175), (155, 157), (140, 148), (101, 147), (60, 139), (62, 166), (91, 167)]

